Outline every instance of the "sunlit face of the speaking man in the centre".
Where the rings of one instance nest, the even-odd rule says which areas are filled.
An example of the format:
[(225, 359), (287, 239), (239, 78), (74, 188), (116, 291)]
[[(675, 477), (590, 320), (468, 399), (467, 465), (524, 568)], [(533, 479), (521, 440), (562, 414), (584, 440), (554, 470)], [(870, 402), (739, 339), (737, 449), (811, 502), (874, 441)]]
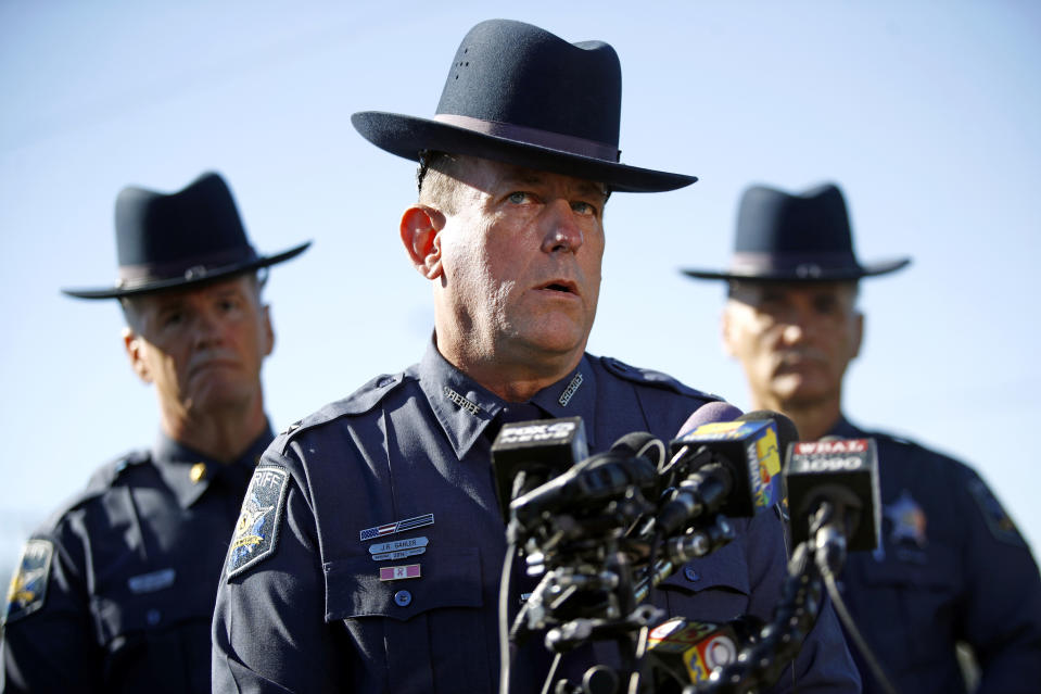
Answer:
[[(482, 358), (581, 356), (600, 291), (601, 185), (464, 157), (439, 235), (442, 339)], [(450, 348), (449, 348), (450, 349)]]

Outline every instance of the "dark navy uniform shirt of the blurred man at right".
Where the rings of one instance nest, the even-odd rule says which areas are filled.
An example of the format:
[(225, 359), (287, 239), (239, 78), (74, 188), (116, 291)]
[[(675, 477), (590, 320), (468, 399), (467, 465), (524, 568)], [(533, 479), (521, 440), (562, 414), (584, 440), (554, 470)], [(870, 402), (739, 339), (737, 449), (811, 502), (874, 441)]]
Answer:
[[(1041, 579), (1015, 525), (968, 466), (846, 419), (830, 431), (878, 445), (881, 545), (841, 575), (854, 622), (900, 692), (966, 691), (955, 642), (970, 644), (979, 693), (1041, 686)], [(864, 692), (881, 692), (854, 653)]]

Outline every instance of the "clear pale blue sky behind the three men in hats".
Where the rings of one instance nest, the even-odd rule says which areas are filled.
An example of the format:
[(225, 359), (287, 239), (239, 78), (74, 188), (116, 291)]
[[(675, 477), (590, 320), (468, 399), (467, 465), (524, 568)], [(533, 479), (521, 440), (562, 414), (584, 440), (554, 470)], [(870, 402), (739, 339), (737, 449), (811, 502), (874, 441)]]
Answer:
[[(455, 7), (458, 4), (458, 7)], [(101, 463), (149, 445), (153, 392), (111, 286), (126, 185), (221, 172), (271, 273), (276, 430), (420, 357), (430, 289), (397, 237), (414, 165), (350, 116), (432, 116), (456, 47), (508, 17), (622, 61), (622, 161), (693, 187), (614, 195), (595, 354), (748, 408), (720, 283), (752, 182), (847, 192), (866, 342), (850, 417), (952, 453), (1041, 542), (1038, 303), (1041, 4), (1031, 0), (432, 3), (0, 1), (0, 570)]]

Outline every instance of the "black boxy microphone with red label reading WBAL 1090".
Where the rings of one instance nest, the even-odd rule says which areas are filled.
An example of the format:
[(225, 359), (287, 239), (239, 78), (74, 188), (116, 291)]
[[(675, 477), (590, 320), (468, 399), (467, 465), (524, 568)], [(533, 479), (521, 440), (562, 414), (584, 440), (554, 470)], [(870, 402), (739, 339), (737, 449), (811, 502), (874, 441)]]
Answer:
[(828, 504), (830, 522), (843, 534), (850, 551), (878, 546), (881, 504), (874, 439), (828, 437), (792, 443), (785, 479), (791, 537), (797, 544), (809, 539), (811, 522)]

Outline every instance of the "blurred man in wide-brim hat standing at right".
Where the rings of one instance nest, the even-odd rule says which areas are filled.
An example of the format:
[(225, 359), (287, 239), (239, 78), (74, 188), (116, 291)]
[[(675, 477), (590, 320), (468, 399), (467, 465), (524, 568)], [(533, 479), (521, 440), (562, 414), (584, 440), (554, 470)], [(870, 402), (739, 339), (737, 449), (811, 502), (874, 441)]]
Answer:
[[(881, 677), (898, 692), (964, 692), (955, 647), (965, 642), (980, 666), (978, 692), (1032, 692), (1041, 681), (1041, 580), (1012, 519), (967, 465), (865, 431), (842, 411), (843, 377), (864, 333), (858, 283), (909, 263), (858, 260), (834, 184), (801, 193), (753, 186), (741, 198), (729, 268), (684, 272), (728, 283), (723, 343), (756, 408), (788, 415), (804, 440), (875, 439), (881, 544), (851, 553), (840, 578)], [(864, 692), (887, 691), (868, 659), (854, 656)]]

